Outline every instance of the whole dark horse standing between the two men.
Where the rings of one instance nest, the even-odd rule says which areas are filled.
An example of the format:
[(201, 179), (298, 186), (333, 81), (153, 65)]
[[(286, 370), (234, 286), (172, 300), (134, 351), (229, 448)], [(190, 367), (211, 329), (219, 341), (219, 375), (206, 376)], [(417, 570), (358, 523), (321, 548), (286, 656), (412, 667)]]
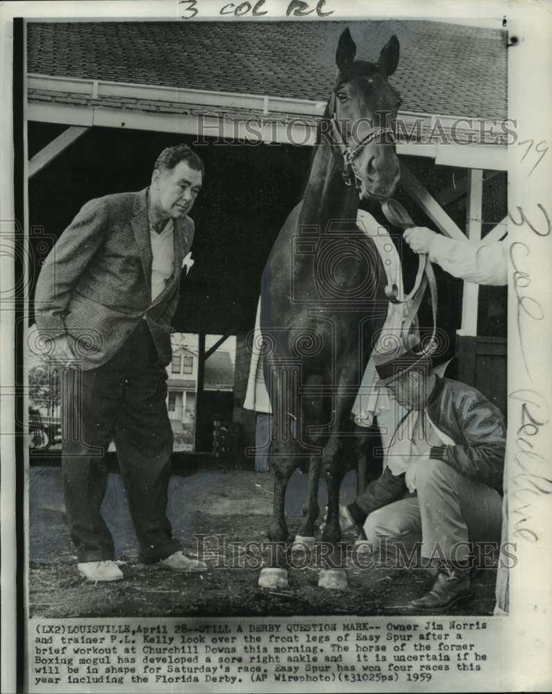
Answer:
[(285, 221), (262, 276), (260, 328), (274, 415), (274, 551), (259, 579), (267, 588), (287, 585), (284, 501), (297, 467), (308, 470), (309, 488), (297, 538), (314, 541), (318, 480), (324, 475), (328, 517), (322, 545), (330, 551), (322, 559), (319, 585), (346, 586), (338, 515), (340, 485), (357, 457), (351, 407), (387, 314), (383, 265), (356, 218), (359, 198), (389, 198), (399, 180), (393, 126), (400, 101), (387, 83), (399, 62), (399, 41), (391, 38), (377, 65), (355, 56), (346, 29), (305, 196)]

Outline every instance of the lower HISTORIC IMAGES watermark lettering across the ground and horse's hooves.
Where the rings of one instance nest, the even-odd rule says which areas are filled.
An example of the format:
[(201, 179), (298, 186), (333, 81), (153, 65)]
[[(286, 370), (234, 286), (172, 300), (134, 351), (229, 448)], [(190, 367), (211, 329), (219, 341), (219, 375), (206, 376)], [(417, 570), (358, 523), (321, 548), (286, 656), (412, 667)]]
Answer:
[[(389, 536), (381, 535), (378, 543), (360, 541), (339, 543), (337, 552), (332, 543), (320, 541), (314, 544), (296, 542), (291, 545), (278, 542), (229, 541), (224, 534), (194, 535), (194, 551), (200, 561), (210, 568), (258, 570), (268, 560), (285, 559), (287, 566), (303, 569), (312, 566), (342, 568), (344, 564), (358, 569), (385, 567), (385, 569), (430, 569), (437, 562), (445, 561), (451, 566), (465, 566), (465, 554), (469, 552), (470, 568), (474, 570), (514, 568), (517, 565), (516, 543), (458, 542), (446, 552), (440, 543), (433, 547), (422, 543), (390, 542)], [(271, 566), (271, 564), (269, 564)]]

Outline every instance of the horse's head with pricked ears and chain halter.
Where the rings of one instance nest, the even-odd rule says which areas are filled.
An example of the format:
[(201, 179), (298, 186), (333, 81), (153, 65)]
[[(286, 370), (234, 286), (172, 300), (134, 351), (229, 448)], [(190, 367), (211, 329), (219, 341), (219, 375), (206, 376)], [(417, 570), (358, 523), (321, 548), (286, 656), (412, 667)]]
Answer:
[(399, 40), (391, 37), (377, 65), (355, 60), (355, 55), (356, 44), (345, 29), (335, 54), (337, 75), (330, 115), (345, 169), (351, 170), (360, 196), (389, 198), (400, 175), (393, 130), (401, 100), (387, 77), (399, 64)]

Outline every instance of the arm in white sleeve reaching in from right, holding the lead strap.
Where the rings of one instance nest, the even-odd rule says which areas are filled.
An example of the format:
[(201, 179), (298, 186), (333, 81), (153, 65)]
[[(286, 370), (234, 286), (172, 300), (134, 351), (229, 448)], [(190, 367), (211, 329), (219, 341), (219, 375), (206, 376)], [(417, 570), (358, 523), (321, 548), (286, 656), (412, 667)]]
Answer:
[(415, 253), (429, 253), (431, 262), (453, 277), (478, 285), (505, 285), (508, 282), (508, 249), (500, 241), (471, 244), (449, 239), (425, 227), (413, 227), (404, 233)]

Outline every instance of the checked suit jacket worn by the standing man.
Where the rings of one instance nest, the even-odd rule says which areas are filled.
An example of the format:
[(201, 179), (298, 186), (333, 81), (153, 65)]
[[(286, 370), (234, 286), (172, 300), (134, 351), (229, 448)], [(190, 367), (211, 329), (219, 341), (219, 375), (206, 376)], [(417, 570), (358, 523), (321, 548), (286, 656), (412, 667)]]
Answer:
[(194, 238), (190, 217), (174, 221), (174, 271), (151, 301), (148, 189), (86, 203), (42, 267), (35, 291), (40, 333), (68, 333), (83, 369), (105, 364), (145, 317), (160, 364), (169, 364), (171, 321), (182, 262)]

